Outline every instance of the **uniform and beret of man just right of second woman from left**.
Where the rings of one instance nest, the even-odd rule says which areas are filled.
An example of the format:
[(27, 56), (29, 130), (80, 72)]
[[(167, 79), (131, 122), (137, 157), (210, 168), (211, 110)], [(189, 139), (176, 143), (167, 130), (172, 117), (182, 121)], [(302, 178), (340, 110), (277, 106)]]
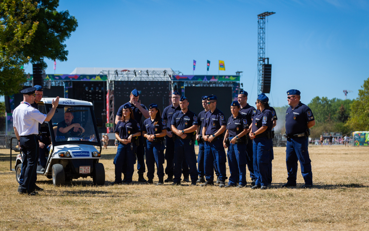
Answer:
[[(174, 91), (172, 93), (172, 96), (174, 95), (180, 95), (179, 92)], [(178, 107), (174, 107), (173, 104), (167, 106), (163, 110), (163, 114), (161, 115), (161, 118), (167, 121), (167, 132), (172, 132), (170, 128), (170, 123), (172, 122), (173, 114), (177, 111), (180, 111), (181, 107), (178, 105)], [(165, 149), (165, 160), (167, 160), (167, 166), (165, 167), (165, 174), (168, 175), (168, 179), (165, 180), (165, 182), (172, 181), (173, 178), (173, 167), (174, 167), (174, 140), (172, 137), (169, 137), (168, 135), (165, 136), (165, 143), (166, 143), (166, 149)], [(189, 175), (188, 165), (184, 161), (182, 165), (182, 173), (185, 177)]]

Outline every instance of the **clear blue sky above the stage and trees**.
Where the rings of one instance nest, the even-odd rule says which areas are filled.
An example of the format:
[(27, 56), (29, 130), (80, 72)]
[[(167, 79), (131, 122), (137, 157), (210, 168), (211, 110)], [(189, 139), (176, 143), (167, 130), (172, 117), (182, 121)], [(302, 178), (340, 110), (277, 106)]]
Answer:
[[(257, 97), (257, 14), (268, 17), (266, 55), (272, 64), (271, 105), (287, 104), (286, 91), (298, 89), (302, 102), (344, 99), (369, 77), (369, 1), (365, 0), (61, 0), (78, 28), (65, 42), (75, 67), (171, 67), (184, 74), (217, 75), (244, 71), (242, 82)], [(54, 73), (47, 60), (46, 73)], [(26, 72), (31, 72), (31, 65)], [(3, 98), (2, 98), (3, 99)]]

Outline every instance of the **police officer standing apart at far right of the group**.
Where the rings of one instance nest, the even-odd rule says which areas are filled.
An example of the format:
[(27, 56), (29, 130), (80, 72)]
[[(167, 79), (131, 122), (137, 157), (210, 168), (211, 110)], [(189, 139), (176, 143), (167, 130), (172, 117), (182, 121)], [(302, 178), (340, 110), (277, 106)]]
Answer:
[(286, 165), (287, 165), (287, 183), (282, 187), (296, 186), (297, 161), (300, 162), (301, 173), (305, 184), (302, 188), (312, 187), (311, 161), (309, 158), (308, 136), (310, 128), (315, 125), (315, 119), (311, 109), (300, 101), (299, 90), (289, 90), (287, 92), (287, 101), (289, 108), (286, 111)]

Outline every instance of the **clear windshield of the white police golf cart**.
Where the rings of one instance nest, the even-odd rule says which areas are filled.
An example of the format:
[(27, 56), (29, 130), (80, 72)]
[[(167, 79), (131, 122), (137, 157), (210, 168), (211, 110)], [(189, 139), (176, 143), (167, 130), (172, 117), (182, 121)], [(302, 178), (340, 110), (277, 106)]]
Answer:
[[(45, 104), (47, 111), (51, 104)], [(93, 117), (92, 106), (59, 104), (49, 125), (52, 125), (53, 143), (86, 143), (99, 145), (98, 133)]]

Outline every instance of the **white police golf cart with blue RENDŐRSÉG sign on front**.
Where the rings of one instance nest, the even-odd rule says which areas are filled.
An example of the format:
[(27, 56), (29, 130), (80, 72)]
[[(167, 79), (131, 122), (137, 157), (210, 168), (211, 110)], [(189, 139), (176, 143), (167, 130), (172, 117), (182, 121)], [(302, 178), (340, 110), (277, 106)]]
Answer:
[[(52, 108), (53, 99), (55, 100), (42, 98), (38, 102), (40, 112), (47, 114)], [(76, 127), (69, 129), (68, 125), (72, 124)], [(40, 131), (46, 137), (50, 137), (51, 145), (50, 150), (46, 151), (48, 157), (41, 157), (47, 158), (46, 167), (42, 169), (42, 166), (38, 165), (37, 175), (52, 178), (54, 185), (62, 185), (65, 181), (88, 176), (92, 177), (95, 185), (104, 185), (105, 169), (104, 165), (99, 163), (101, 142), (97, 127), (102, 127), (102, 119), (97, 119), (96, 122), (91, 102), (60, 98), (51, 121), (41, 125)], [(95, 146), (100, 147), (100, 150), (98, 151)], [(19, 181), (23, 162), (22, 150), (10, 147), (10, 166), (11, 150), (20, 152), (16, 158), (15, 168), (11, 169), (16, 172), (16, 179)]]

